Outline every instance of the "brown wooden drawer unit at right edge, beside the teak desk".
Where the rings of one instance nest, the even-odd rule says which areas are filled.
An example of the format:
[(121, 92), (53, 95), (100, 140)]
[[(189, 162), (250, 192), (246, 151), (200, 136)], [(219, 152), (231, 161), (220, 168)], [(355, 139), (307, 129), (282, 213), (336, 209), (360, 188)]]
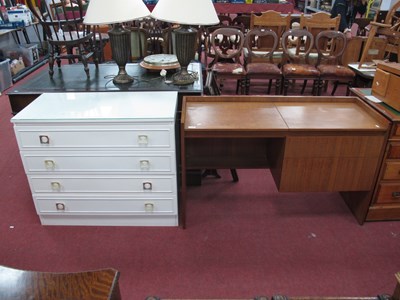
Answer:
[(369, 100), (369, 88), (351, 88), (350, 92), (390, 121), (390, 135), (366, 221), (400, 220), (400, 112)]

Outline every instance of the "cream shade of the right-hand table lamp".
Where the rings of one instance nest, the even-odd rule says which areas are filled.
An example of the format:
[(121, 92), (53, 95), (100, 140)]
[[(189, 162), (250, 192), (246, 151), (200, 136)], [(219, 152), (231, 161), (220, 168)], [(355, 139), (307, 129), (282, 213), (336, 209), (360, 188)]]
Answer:
[(158, 0), (151, 16), (157, 20), (181, 25), (219, 23), (212, 0)]

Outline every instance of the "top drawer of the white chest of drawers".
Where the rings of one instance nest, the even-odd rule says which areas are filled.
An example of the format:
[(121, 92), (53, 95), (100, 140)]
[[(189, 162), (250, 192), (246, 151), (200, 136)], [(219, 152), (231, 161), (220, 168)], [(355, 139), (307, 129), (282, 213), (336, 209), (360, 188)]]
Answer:
[(173, 123), (167, 126), (16, 126), (20, 149), (175, 149)]

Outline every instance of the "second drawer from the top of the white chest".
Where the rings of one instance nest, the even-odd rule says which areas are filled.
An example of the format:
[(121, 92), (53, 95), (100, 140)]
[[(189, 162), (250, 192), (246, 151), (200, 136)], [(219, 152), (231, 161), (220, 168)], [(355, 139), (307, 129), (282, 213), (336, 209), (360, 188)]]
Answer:
[(25, 172), (176, 173), (174, 152), (21, 151)]

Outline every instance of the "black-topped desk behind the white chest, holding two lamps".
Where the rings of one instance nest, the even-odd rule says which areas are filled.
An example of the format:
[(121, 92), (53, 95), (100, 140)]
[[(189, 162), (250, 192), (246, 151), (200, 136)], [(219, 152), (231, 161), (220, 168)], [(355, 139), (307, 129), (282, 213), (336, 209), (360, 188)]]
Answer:
[[(55, 67), (53, 78), (49, 76), (48, 69), (44, 68), (35, 77), (26, 83), (11, 89), (7, 94), (13, 114), (21, 111), (25, 106), (43, 93), (63, 92), (115, 92), (115, 91), (177, 91), (178, 110), (181, 108), (182, 97), (185, 95), (202, 95), (203, 78), (201, 64), (193, 62), (188, 70), (198, 74), (198, 80), (193, 84), (177, 86), (165, 83), (160, 76), (160, 71), (149, 71), (139, 64), (128, 64), (126, 70), (134, 77), (134, 82), (127, 85), (114, 85), (113, 76), (118, 73), (115, 64), (100, 64), (96, 69), (90, 64), (90, 78), (86, 77), (81, 64), (63, 65), (61, 69)], [(173, 71), (168, 71), (167, 79)]]

